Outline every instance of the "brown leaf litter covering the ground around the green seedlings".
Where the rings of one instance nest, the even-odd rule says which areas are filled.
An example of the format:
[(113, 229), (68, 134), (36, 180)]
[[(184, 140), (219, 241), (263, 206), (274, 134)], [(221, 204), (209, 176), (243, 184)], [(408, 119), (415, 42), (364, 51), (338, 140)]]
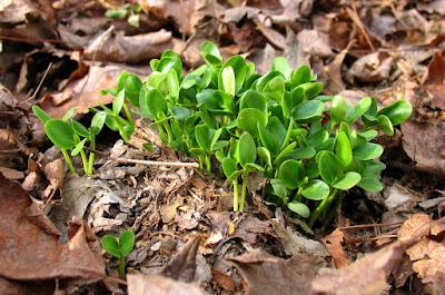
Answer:
[[(106, 17), (120, 0), (0, 1), (0, 294), (445, 294), (445, 1), (128, 2), (138, 28)], [(260, 72), (277, 56), (308, 63), (350, 104), (409, 100), (378, 138), (384, 190), (352, 189), (314, 230), (258, 191), (236, 214), (218, 176), (126, 164), (192, 160), (145, 124), (128, 144), (98, 137), (92, 177), (66, 171), (32, 105), (88, 121), (122, 70), (144, 78), (166, 49), (194, 69), (205, 40)], [(120, 279), (99, 240), (123, 229), (136, 246)]]

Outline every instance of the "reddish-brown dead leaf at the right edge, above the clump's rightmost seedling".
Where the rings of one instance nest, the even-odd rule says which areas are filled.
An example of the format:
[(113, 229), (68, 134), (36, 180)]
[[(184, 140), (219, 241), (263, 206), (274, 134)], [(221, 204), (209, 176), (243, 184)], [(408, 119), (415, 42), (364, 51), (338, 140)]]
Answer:
[(423, 87), (434, 108), (445, 110), (445, 51), (437, 51), (429, 61)]

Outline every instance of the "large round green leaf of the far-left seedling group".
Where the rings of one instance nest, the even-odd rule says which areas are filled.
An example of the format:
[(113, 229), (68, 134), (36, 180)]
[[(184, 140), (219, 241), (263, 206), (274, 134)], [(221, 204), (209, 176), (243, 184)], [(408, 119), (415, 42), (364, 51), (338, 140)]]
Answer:
[(72, 127), (63, 121), (51, 119), (44, 124), (44, 132), (56, 146), (69, 149), (76, 146)]

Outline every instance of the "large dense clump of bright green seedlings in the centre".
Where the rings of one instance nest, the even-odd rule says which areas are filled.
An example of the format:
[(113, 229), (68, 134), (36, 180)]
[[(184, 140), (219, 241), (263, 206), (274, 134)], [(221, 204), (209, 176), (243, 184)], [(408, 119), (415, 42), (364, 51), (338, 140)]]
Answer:
[(171, 50), (150, 61), (145, 81), (122, 72), (117, 88), (103, 91), (115, 96), (112, 109), (95, 110), (95, 117), (105, 116), (125, 140), (135, 129), (131, 112), (148, 117), (161, 140), (196, 157), (201, 170), (211, 173), (217, 160), (233, 184), (235, 212), (244, 210), (249, 175), (258, 173), (268, 179), (265, 195), (309, 218), (309, 226), (325, 224), (355, 186), (382, 190), (383, 147), (372, 140), (379, 131), (394, 135), (412, 114), (408, 101), (378, 109), (365, 97), (348, 106), (339, 96), (322, 95), (308, 66), (293, 70), (283, 57), (259, 75), (241, 56), (224, 61), (209, 41), (201, 56), (206, 63), (188, 73)]

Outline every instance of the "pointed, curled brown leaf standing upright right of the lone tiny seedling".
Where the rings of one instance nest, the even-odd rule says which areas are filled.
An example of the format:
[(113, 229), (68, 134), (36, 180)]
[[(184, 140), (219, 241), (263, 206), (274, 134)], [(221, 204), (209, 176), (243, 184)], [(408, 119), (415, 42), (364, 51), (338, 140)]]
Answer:
[(195, 236), (184, 245), (160, 272), (176, 281), (191, 282), (196, 272), (196, 254), (202, 236)]

